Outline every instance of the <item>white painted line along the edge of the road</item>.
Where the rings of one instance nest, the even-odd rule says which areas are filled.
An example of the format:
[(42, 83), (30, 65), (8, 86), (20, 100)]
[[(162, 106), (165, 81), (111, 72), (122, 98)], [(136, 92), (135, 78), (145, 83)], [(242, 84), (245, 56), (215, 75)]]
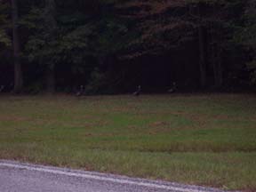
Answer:
[(50, 168), (39, 168), (39, 167), (20, 165), (20, 164), (0, 163), (0, 166), (17, 168), (17, 169), (26, 169), (28, 171), (48, 172), (53, 174), (60, 174), (65, 176), (72, 176), (72, 177), (92, 179), (92, 180), (110, 181), (110, 182), (119, 183), (119, 184), (129, 184), (129, 185), (135, 185), (135, 186), (141, 186), (141, 187), (147, 187), (147, 188), (161, 188), (161, 189), (174, 190), (174, 191), (180, 191), (180, 192), (205, 192), (199, 189), (177, 188), (177, 187), (166, 186), (161, 184), (124, 180), (124, 179), (114, 179), (114, 178), (108, 178), (104, 176), (90, 175), (90, 174), (78, 173), (78, 172), (64, 172), (64, 171), (54, 170)]

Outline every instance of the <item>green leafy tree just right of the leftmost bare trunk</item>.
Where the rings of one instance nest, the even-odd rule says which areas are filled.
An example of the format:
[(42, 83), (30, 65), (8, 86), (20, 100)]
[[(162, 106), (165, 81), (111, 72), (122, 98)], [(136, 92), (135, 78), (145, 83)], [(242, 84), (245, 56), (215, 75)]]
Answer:
[(84, 68), (86, 57), (92, 55), (89, 38), (92, 38), (94, 20), (89, 22), (90, 15), (84, 12), (70, 12), (66, 6), (71, 5), (67, 4), (47, 0), (43, 7), (41, 4), (33, 7), (22, 20), (30, 35), (26, 55), (28, 60), (44, 68), (47, 92), (55, 90), (58, 65), (69, 65), (72, 76), (73, 71), (80, 71), (81, 66)]

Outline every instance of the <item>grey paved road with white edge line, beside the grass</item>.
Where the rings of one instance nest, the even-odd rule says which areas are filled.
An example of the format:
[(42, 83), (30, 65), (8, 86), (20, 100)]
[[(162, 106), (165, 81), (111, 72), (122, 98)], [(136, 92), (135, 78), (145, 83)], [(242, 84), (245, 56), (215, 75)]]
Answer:
[(0, 160), (1, 192), (221, 192), (155, 180), (132, 179)]

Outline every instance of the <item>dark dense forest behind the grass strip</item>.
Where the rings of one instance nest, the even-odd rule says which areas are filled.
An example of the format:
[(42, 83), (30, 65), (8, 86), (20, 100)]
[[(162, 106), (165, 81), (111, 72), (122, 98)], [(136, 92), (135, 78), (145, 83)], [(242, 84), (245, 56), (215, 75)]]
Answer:
[(0, 0), (0, 92), (255, 92), (255, 0)]

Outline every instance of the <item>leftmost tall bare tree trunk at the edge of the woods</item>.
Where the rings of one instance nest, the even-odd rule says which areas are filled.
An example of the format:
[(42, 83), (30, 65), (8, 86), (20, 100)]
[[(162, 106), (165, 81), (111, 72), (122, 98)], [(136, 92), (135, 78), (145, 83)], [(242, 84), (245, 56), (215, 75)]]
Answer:
[(12, 0), (12, 47), (14, 59), (14, 88), (13, 92), (19, 93), (23, 88), (23, 74), (20, 64), (20, 39), (18, 26), (18, 4)]

